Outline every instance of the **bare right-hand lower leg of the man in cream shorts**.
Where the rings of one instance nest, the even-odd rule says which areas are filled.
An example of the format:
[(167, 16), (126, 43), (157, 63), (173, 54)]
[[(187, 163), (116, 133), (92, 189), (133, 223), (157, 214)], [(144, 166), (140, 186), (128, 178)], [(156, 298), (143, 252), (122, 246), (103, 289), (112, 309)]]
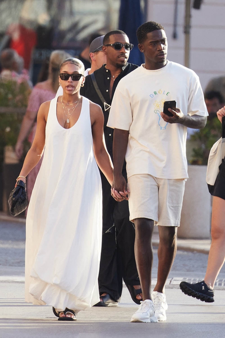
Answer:
[(153, 291), (165, 293), (165, 284), (176, 256), (177, 240), (176, 226), (158, 226), (159, 248), (158, 248), (158, 276), (157, 284)]

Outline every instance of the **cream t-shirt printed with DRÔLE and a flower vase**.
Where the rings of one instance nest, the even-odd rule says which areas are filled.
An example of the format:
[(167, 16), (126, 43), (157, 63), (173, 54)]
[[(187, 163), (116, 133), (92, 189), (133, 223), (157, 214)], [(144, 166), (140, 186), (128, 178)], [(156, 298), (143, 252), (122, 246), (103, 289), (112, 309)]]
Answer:
[(198, 76), (177, 63), (168, 61), (158, 70), (140, 66), (119, 81), (107, 126), (129, 130), (128, 177), (188, 177), (187, 127), (167, 123), (160, 115), (164, 101), (170, 100), (176, 101), (184, 115), (208, 115)]

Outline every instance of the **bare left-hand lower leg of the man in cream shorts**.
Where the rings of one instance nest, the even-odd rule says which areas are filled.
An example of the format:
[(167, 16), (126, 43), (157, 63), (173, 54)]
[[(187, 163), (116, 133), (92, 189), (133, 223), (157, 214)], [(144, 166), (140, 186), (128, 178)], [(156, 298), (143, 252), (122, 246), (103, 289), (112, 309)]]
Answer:
[(154, 228), (154, 221), (147, 218), (136, 218), (135, 223), (135, 259), (138, 274), (141, 282), (143, 300), (151, 299), (151, 268), (153, 252), (151, 237)]

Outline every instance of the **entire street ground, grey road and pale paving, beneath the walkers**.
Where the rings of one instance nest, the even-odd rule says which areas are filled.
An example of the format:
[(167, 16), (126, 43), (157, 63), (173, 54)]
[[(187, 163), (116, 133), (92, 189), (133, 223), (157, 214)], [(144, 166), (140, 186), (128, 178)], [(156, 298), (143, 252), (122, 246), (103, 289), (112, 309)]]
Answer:
[[(123, 286), (118, 307), (81, 311), (77, 322), (60, 322), (50, 306), (24, 300), (25, 219), (0, 213), (0, 338), (216, 338), (225, 331), (225, 270), (215, 287), (215, 302), (203, 303), (183, 294), (181, 280), (199, 280), (205, 272), (210, 241), (178, 239), (176, 259), (166, 283), (167, 321), (130, 323), (138, 306)], [(10, 223), (11, 222), (11, 223)], [(152, 288), (157, 276), (158, 234), (153, 235)], [(186, 251), (183, 251), (186, 250)], [(187, 252), (191, 251), (191, 252)], [(78, 258), (79, 259), (79, 258)], [(190, 279), (191, 276), (191, 279)]]

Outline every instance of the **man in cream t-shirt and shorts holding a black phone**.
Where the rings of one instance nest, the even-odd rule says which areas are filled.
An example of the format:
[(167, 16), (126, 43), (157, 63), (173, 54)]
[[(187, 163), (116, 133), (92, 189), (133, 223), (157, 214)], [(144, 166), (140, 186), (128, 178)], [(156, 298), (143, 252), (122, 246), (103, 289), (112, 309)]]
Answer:
[[(164, 28), (146, 22), (137, 30), (145, 64), (120, 80), (109, 114), (114, 128), (112, 194), (127, 199), (135, 223), (135, 258), (143, 303), (131, 321), (166, 320), (165, 283), (176, 255), (176, 233), (185, 181), (187, 127), (203, 128), (207, 109), (198, 76), (166, 59)], [(165, 101), (176, 101), (176, 111), (163, 114)], [(128, 189), (122, 176), (126, 160)], [(120, 193), (119, 193), (120, 192)], [(151, 236), (159, 225), (158, 280), (152, 294)]]

